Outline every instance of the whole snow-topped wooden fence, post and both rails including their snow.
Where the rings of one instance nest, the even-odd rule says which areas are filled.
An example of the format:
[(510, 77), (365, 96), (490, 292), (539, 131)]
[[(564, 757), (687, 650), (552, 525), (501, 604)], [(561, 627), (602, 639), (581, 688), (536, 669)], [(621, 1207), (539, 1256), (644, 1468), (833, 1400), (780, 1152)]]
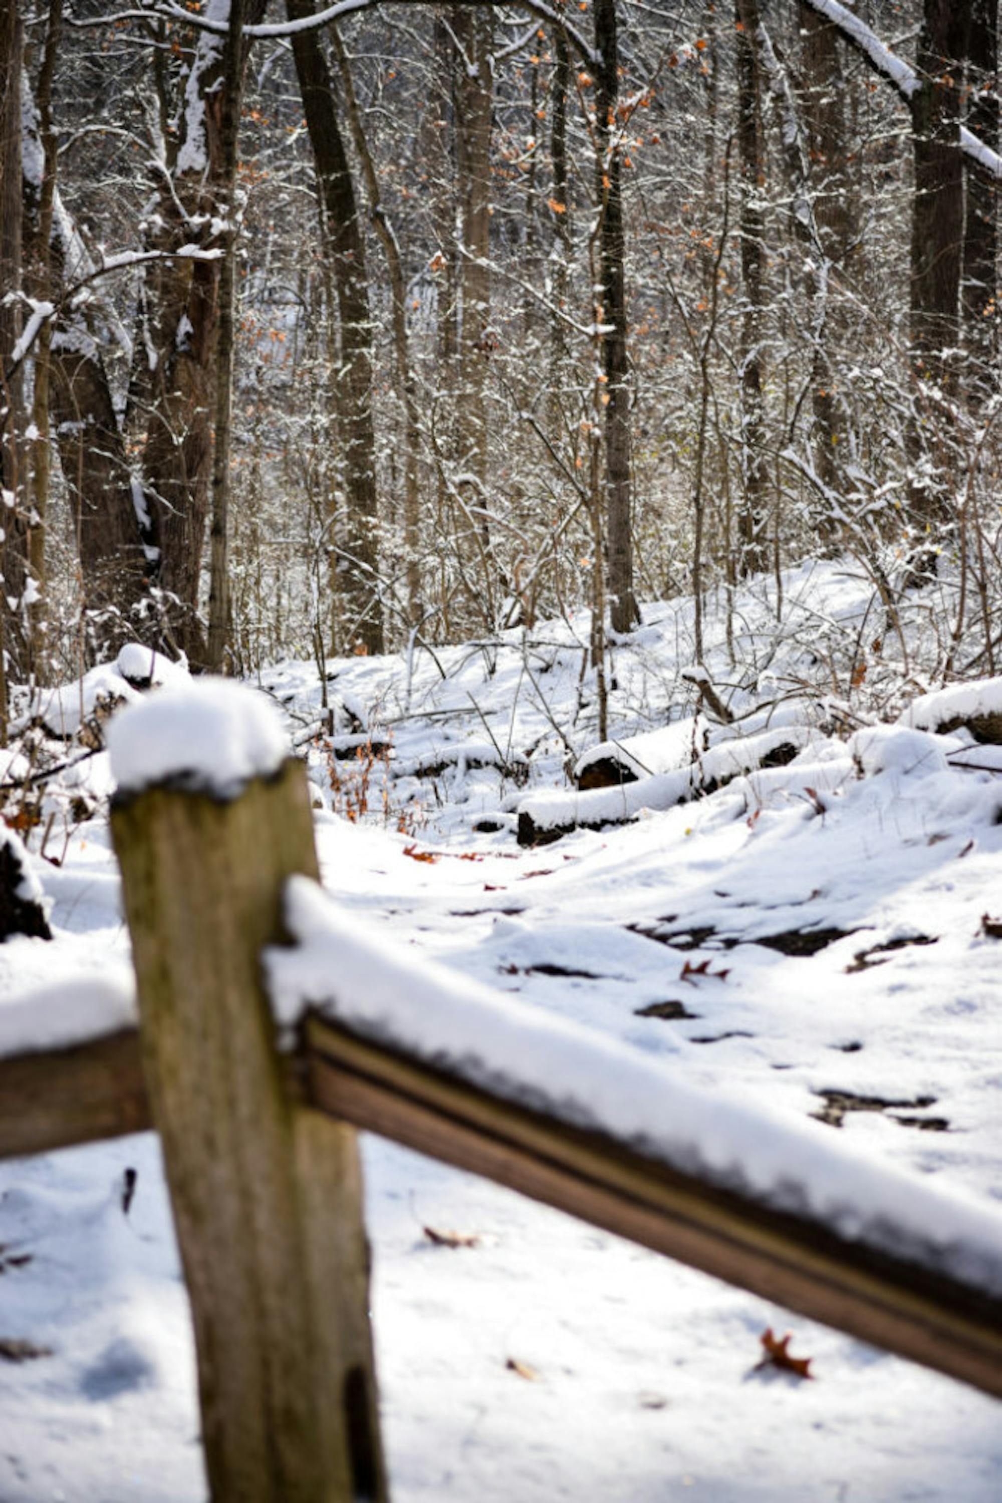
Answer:
[(315, 885), (302, 765), (224, 690), (111, 736), (140, 1030), (110, 989), (87, 1037), (0, 1034), (0, 1156), (161, 1133), (215, 1503), (386, 1497), (355, 1127), (1002, 1398), (1002, 1210), (388, 956)]

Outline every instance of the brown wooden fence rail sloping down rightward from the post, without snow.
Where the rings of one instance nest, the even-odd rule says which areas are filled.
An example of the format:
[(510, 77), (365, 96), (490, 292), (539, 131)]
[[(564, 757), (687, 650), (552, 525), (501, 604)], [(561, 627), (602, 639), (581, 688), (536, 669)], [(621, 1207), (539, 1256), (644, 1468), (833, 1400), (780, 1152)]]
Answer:
[(1002, 1398), (1002, 1300), (599, 1132), (306, 1024), (324, 1111)]

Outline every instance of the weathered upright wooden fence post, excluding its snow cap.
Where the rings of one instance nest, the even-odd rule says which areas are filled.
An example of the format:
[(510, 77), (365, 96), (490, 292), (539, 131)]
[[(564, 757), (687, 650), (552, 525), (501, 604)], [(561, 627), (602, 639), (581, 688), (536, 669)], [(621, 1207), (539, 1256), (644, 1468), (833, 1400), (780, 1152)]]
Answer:
[(213, 1503), (385, 1503), (355, 1130), (287, 1085), (260, 953), (317, 876), (305, 770), (111, 813)]

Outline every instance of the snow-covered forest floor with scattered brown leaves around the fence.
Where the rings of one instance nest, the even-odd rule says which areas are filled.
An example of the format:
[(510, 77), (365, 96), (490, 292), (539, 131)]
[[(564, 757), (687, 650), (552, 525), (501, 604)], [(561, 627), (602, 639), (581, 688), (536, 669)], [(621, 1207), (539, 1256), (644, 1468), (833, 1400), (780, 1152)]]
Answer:
[[(311, 666), (276, 666), (263, 687), (311, 762), (324, 884), (415, 954), (667, 1061), (721, 1111), (768, 1106), (997, 1202), (1002, 756), (927, 727), (1002, 696), (909, 711), (939, 685), (877, 646), (862, 582), (805, 567), (784, 592), (781, 634), (768, 598), (738, 603), (741, 673), (714, 622), (706, 666), (739, 718), (711, 738), (790, 723), (796, 759), (538, 848), (515, 842), (520, 803), (566, 789), (599, 739), (584, 622), (338, 661), (329, 718)], [(647, 607), (616, 648), (613, 741), (694, 715), (687, 609)], [(643, 748), (640, 779), (673, 776)], [(56, 941), (0, 945), (0, 1024), (39, 987), (128, 969), (105, 755), (69, 780), (29, 837), (38, 854), (56, 815), (60, 864), (35, 863)], [(72, 827), (81, 803), (98, 813)], [(391, 1144), (367, 1139), (365, 1168), (398, 1503), (1002, 1497), (993, 1401)], [(155, 1138), (0, 1165), (0, 1339), (45, 1351), (0, 1359), (2, 1503), (203, 1498)], [(760, 1366), (766, 1327), (792, 1329), (810, 1381)]]

